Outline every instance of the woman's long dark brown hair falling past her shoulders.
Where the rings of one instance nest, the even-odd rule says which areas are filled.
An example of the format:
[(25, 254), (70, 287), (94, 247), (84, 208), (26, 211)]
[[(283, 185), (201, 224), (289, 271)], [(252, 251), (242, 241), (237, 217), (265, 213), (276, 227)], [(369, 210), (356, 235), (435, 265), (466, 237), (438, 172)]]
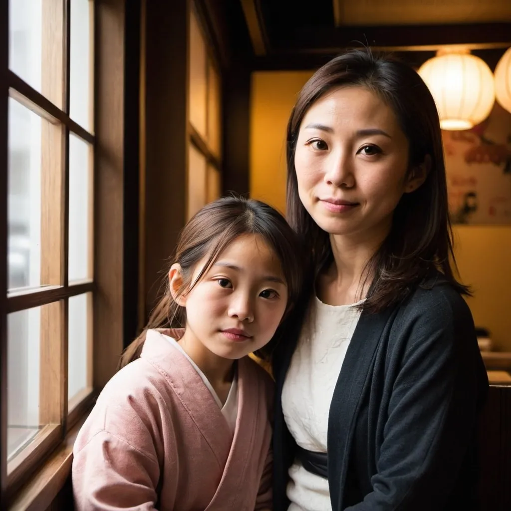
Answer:
[[(370, 278), (362, 308), (378, 312), (405, 298), (411, 288), (440, 271), (460, 293), (470, 294), (454, 276), (456, 266), (447, 204), (447, 183), (438, 113), (426, 84), (407, 64), (369, 49), (348, 51), (323, 65), (301, 89), (287, 127), (287, 219), (312, 254), (314, 277), (333, 260), (328, 233), (306, 211), (298, 196), (294, 157), (301, 122), (326, 92), (360, 86), (374, 92), (396, 115), (409, 142), (408, 172), (431, 158), (426, 181), (403, 194), (389, 235), (368, 261)], [(435, 271), (436, 270), (436, 271)]]

